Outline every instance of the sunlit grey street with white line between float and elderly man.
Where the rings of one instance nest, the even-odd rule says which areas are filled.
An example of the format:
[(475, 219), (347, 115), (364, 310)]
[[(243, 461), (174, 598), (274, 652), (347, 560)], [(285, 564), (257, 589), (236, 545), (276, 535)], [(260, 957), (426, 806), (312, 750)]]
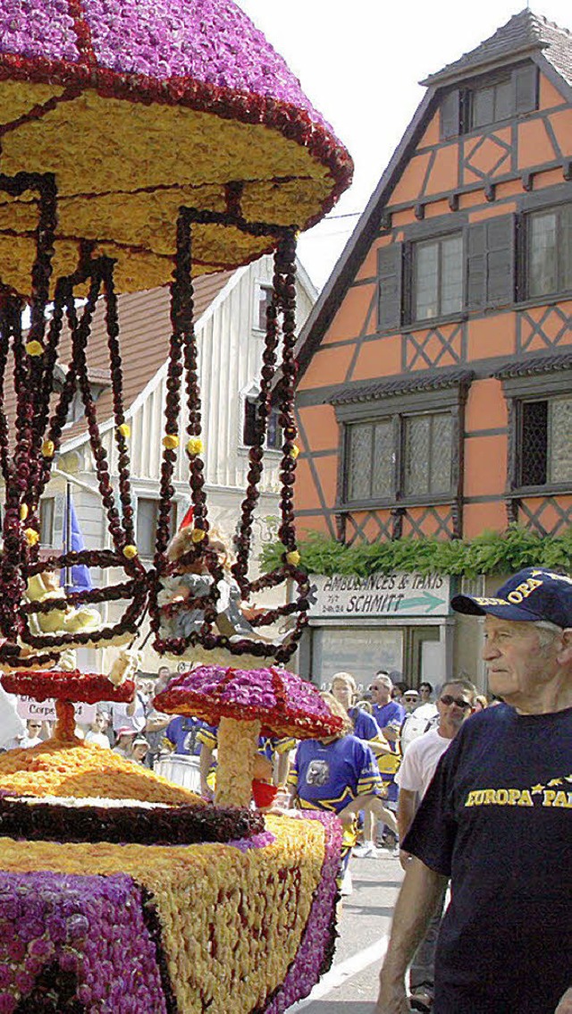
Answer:
[(371, 1014), (404, 874), (399, 859), (387, 852), (375, 859), (352, 858), (351, 873), (354, 889), (344, 898), (334, 964), (288, 1014)]

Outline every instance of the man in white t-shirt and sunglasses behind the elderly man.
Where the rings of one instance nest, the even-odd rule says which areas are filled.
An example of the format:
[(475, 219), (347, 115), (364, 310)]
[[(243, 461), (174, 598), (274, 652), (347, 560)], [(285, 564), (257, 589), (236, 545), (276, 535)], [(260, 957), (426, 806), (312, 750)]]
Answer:
[[(452, 679), (444, 683), (437, 698), (439, 724), (409, 743), (396, 775), (396, 782), (400, 787), (400, 842), (403, 842), (413, 823), (417, 807), (429, 788), (440, 757), (452, 743), (462, 723), (473, 714), (476, 694), (477, 689), (469, 679)], [(407, 870), (409, 854), (402, 850), (400, 858), (403, 868)], [(444, 891), (411, 963), (409, 979), (412, 1010), (429, 1011), (432, 1006), (435, 945), (443, 902)]]

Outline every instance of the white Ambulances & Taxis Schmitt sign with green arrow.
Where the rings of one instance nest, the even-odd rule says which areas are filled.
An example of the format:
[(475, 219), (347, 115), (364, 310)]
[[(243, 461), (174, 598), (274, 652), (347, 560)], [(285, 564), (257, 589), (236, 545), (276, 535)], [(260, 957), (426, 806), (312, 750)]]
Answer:
[(315, 601), (310, 619), (335, 617), (446, 617), (450, 578), (440, 574), (310, 575)]

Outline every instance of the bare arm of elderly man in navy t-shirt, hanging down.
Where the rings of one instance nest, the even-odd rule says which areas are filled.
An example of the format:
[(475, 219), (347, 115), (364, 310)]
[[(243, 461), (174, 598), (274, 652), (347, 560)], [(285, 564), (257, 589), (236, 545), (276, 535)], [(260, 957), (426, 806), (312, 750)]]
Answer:
[(447, 877), (430, 870), (420, 859), (413, 858), (409, 864), (394, 913), (374, 1014), (405, 1014), (409, 1011), (406, 971), (425, 936), (446, 882)]

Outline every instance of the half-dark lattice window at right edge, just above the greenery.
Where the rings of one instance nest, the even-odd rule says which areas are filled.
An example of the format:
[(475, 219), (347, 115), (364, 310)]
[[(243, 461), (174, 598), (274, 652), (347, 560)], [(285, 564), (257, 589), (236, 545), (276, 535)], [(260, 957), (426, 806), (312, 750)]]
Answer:
[(520, 487), (572, 483), (572, 396), (520, 403)]

